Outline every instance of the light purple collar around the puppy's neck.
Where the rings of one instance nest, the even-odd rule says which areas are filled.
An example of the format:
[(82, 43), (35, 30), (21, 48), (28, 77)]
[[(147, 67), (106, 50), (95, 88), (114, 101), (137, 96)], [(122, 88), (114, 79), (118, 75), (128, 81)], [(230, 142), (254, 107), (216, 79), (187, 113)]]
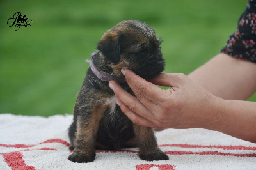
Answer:
[(125, 78), (124, 77), (113, 77), (111, 75), (108, 75), (108, 73), (105, 72), (100, 72), (95, 65), (93, 64), (93, 58), (95, 56), (95, 54), (97, 54), (98, 51), (93, 52), (91, 55), (91, 60), (86, 60), (86, 62), (90, 63), (90, 67), (92, 72), (102, 81), (116, 81), (118, 83), (124, 83), (125, 82)]

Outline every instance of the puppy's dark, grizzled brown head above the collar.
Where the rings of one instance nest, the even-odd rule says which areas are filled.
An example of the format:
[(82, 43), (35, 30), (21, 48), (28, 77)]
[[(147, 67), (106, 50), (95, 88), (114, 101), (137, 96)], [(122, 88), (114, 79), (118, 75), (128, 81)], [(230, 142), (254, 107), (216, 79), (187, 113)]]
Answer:
[(113, 75), (122, 77), (121, 68), (129, 68), (149, 79), (164, 70), (160, 45), (152, 27), (138, 20), (124, 20), (104, 33), (97, 49), (110, 62)]

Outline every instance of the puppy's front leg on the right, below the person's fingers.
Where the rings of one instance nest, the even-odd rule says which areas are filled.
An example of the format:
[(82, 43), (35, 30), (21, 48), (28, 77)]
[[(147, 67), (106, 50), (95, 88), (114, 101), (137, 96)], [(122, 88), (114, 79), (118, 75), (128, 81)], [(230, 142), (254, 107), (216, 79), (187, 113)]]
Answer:
[(157, 146), (154, 131), (149, 127), (133, 125), (136, 139), (138, 140), (139, 157), (143, 160), (168, 160), (169, 157)]

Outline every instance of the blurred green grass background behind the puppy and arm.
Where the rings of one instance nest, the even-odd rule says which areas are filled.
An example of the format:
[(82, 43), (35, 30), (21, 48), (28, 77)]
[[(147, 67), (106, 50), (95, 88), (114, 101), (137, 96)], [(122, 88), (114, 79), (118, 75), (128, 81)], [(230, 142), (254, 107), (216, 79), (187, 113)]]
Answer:
[[(153, 27), (168, 73), (188, 74), (220, 52), (247, 0), (1, 1), (0, 112), (72, 114), (90, 54), (121, 20)], [(30, 27), (8, 27), (16, 12)], [(254, 95), (250, 100), (256, 101)]]

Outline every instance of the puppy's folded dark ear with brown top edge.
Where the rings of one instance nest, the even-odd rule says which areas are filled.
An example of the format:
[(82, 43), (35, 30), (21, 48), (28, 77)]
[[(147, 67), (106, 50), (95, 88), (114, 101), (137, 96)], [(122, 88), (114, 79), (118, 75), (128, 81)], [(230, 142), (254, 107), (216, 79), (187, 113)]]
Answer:
[(97, 49), (115, 65), (120, 60), (120, 42), (122, 36), (115, 31), (107, 31), (97, 44)]

